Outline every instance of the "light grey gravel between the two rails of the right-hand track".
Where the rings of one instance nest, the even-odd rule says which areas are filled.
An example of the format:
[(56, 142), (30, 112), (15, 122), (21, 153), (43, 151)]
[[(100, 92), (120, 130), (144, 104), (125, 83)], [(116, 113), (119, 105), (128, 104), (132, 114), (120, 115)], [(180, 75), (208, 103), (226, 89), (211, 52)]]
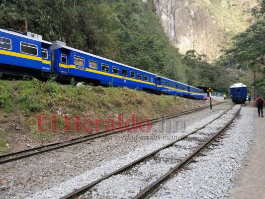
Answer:
[[(216, 131), (221, 129), (239, 109), (239, 105), (228, 111), (219, 119), (213, 121), (206, 128), (195, 132), (195, 134), (204, 134), (206, 140), (208, 136), (213, 136)], [(179, 143), (179, 144), (178, 144)], [(171, 168), (175, 167), (180, 160), (192, 153), (199, 143), (196, 140), (187, 141), (186, 139), (177, 142), (173, 147), (162, 150), (158, 153), (158, 159), (151, 159), (145, 163), (135, 166), (130, 172), (112, 176), (102, 181), (95, 187), (93, 191), (85, 195), (85, 199), (98, 199), (100, 197), (109, 198), (132, 198), (141, 189), (155, 182), (159, 177), (167, 173)], [(134, 181), (135, 179), (135, 181)], [(136, 193), (131, 193), (135, 190)]]

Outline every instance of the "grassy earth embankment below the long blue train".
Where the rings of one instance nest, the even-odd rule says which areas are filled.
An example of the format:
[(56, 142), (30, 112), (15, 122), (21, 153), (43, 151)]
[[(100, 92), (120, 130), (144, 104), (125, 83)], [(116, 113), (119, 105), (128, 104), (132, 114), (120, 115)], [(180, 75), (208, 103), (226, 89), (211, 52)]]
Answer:
[[(192, 104), (192, 106), (191, 106)], [(202, 101), (187, 100), (174, 96), (147, 94), (127, 88), (116, 87), (75, 87), (60, 85), (53, 81), (6, 81), (0, 80), (0, 152), (16, 143), (46, 143), (86, 134), (82, 129), (77, 132), (75, 124), (65, 131), (65, 115), (70, 114), (70, 121), (75, 115), (90, 118), (113, 118), (117, 126), (118, 114), (123, 122), (136, 114), (136, 121), (141, 118), (156, 118), (159, 114), (173, 114), (202, 105)], [(51, 115), (56, 116), (56, 131), (51, 130)], [(37, 115), (48, 115), (43, 128), (38, 130)], [(100, 122), (99, 129), (104, 130), (106, 123)], [(91, 125), (95, 129), (94, 124)]]

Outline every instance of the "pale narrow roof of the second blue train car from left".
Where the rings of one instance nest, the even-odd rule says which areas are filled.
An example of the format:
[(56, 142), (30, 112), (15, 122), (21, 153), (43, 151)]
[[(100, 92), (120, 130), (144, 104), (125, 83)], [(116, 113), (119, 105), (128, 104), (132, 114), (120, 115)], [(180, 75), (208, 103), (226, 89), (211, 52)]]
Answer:
[(102, 59), (102, 60), (105, 60), (105, 61), (108, 61), (108, 62), (112, 62), (114, 64), (118, 64), (118, 65), (121, 65), (121, 66), (125, 66), (127, 68), (135, 69), (135, 70), (138, 70), (138, 71), (141, 71), (141, 72), (144, 72), (144, 73), (148, 73), (148, 74), (157, 76), (157, 74), (150, 73), (148, 71), (144, 71), (144, 70), (141, 70), (141, 69), (138, 69), (138, 68), (134, 68), (132, 66), (128, 66), (128, 65), (125, 65), (125, 64), (122, 64), (122, 63), (119, 63), (119, 62), (115, 62), (115, 61), (110, 60), (110, 59), (106, 59), (104, 57), (100, 57), (100, 56), (97, 56), (97, 55), (93, 55), (93, 54), (87, 53), (87, 52), (82, 51), (82, 50), (78, 50), (78, 49), (69, 47), (69, 46), (65, 45), (64, 42), (53, 41), (52, 44), (53, 45), (52, 45), (51, 49), (65, 48), (65, 49), (72, 50), (72, 51), (75, 51), (75, 52), (79, 52), (79, 53), (82, 53), (82, 54), (85, 54), (85, 55), (88, 55), (88, 56), (92, 56), (92, 57), (95, 57), (95, 58), (98, 58), (98, 59)]

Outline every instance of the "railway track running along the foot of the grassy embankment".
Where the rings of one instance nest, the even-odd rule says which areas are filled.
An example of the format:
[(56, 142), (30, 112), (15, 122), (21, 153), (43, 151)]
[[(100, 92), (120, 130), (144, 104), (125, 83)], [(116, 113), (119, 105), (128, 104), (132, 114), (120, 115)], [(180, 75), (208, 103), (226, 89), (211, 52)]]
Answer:
[[(226, 101), (223, 102), (219, 102), (213, 105), (219, 105), (221, 103), (224, 103)], [(191, 109), (191, 110), (187, 110), (187, 111), (183, 111), (180, 113), (176, 113), (176, 114), (172, 114), (172, 115), (168, 115), (168, 116), (163, 116), (162, 120), (167, 120), (167, 119), (171, 119), (174, 117), (178, 117), (181, 115), (185, 115), (185, 114), (189, 114), (195, 111), (199, 111), (205, 108), (210, 107), (209, 105), (207, 106), (203, 106), (200, 108), (195, 108), (195, 109)], [(155, 118), (155, 119), (151, 119), (150, 122), (151, 124), (154, 124), (158, 121), (160, 121), (161, 118)], [(145, 123), (142, 123), (141, 125), (144, 125)], [(87, 142), (89, 140), (93, 140), (93, 139), (97, 139), (103, 136), (107, 136), (107, 135), (112, 135), (115, 133), (120, 133), (125, 131), (125, 127), (131, 127), (132, 125), (128, 125), (128, 126), (124, 126), (122, 127), (122, 130), (115, 128), (114, 131), (101, 131), (101, 132), (97, 132), (97, 133), (93, 133), (93, 134), (89, 134), (89, 135), (85, 135), (82, 137), (78, 137), (78, 138), (74, 138), (74, 139), (70, 139), (70, 140), (66, 140), (66, 141), (61, 141), (61, 142), (56, 142), (56, 143), (51, 143), (51, 144), (47, 144), (47, 145), (42, 145), (42, 146), (38, 146), (38, 147), (34, 147), (34, 148), (30, 148), (30, 149), (26, 149), (26, 150), (22, 150), (22, 151), (18, 151), (18, 152), (14, 152), (14, 153), (9, 153), (9, 154), (5, 154), (5, 155), (1, 155), (0, 156), (0, 165), (1, 164), (5, 164), (8, 162), (13, 162), (16, 160), (20, 160), (23, 158), (28, 158), (34, 155), (38, 155), (41, 153), (45, 153), (48, 151), (53, 151), (56, 149), (60, 149), (60, 148), (64, 148), (64, 147), (68, 147), (71, 145), (75, 145), (75, 144), (79, 144), (82, 142)], [(138, 124), (136, 124), (136, 127), (138, 127)]]

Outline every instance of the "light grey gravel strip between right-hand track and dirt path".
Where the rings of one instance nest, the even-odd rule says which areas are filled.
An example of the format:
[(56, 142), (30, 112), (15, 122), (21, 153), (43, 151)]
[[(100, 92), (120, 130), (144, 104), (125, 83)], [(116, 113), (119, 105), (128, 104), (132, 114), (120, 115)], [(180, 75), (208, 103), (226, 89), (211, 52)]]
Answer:
[(181, 170), (152, 199), (225, 199), (251, 146), (253, 130), (253, 108), (242, 107), (222, 145), (203, 152), (207, 156), (189, 164), (192, 170)]

